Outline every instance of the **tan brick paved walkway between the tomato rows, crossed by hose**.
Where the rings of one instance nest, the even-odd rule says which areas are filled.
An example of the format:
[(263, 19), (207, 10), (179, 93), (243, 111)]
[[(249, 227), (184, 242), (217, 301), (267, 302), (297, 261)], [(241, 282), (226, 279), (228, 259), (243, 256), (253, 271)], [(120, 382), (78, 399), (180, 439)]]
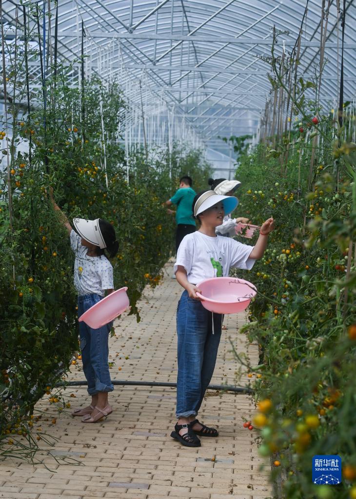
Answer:
[[(132, 316), (116, 324), (116, 336), (110, 340), (113, 379), (176, 382), (175, 321), (181, 288), (171, 275), (169, 263), (162, 285), (145, 289), (139, 324)], [(257, 345), (250, 345), (237, 331), (244, 322), (243, 314), (226, 317), (228, 330), (223, 332), (212, 383), (235, 382), (238, 364), (228, 336), (237, 351), (257, 363)], [(70, 379), (84, 375), (73, 366)], [(114, 412), (95, 425), (70, 416), (73, 409), (87, 405), (85, 387), (64, 394), (71, 408), (55, 424), (52, 418), (58, 413), (48, 396), (36, 406), (45, 413), (35, 429), (40, 426), (58, 441), (41, 445), (37, 459), (42, 464), (0, 463), (0, 498), (265, 499), (272, 495), (269, 465), (258, 456), (256, 435), (242, 427), (242, 417), (252, 418), (255, 410), (251, 397), (208, 392), (199, 418), (216, 426), (220, 436), (202, 438), (200, 448), (188, 449), (170, 437), (174, 388), (117, 386), (110, 396)]]

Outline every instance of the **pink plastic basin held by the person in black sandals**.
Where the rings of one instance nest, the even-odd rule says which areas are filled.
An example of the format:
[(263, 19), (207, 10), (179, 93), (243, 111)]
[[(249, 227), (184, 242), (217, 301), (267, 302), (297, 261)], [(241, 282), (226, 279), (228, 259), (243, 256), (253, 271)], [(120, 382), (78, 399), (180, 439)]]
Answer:
[(201, 304), (210, 312), (229, 314), (245, 310), (251, 298), (256, 295), (256, 287), (249, 281), (237, 277), (213, 277), (197, 287), (201, 289)]

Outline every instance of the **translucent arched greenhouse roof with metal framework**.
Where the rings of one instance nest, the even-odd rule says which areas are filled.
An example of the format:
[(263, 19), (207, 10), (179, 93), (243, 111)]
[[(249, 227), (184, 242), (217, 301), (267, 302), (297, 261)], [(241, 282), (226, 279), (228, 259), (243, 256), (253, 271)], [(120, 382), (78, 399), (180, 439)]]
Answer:
[[(87, 76), (95, 71), (107, 80), (117, 78), (133, 104), (140, 106), (142, 99), (147, 116), (165, 109), (166, 116), (184, 124), (185, 135), (190, 133), (200, 144), (221, 149), (223, 143), (218, 136), (256, 132), (266, 99), (270, 98), (270, 67), (260, 56), (270, 55), (273, 25), (288, 31), (279, 37), (278, 54), (293, 49), (302, 29), (299, 73), (313, 76), (320, 62), (323, 3), (58, 0), (58, 51), (69, 61), (80, 55), (83, 21)], [(41, 2), (38, 5), (43, 8)], [(341, 0), (341, 10), (343, 6)], [(50, 8), (53, 13), (54, 2)], [(327, 64), (320, 94), (327, 109), (336, 105), (340, 85), (340, 9), (336, 0), (330, 0)], [(11, 21), (14, 4), (4, 0), (3, 13), (4, 19)], [(51, 22), (54, 24), (54, 20)], [(355, 97), (355, 48), (356, 1), (347, 0), (344, 100)], [(39, 67), (31, 66), (31, 70), (38, 71)], [(158, 134), (158, 130), (156, 127), (152, 134)]]

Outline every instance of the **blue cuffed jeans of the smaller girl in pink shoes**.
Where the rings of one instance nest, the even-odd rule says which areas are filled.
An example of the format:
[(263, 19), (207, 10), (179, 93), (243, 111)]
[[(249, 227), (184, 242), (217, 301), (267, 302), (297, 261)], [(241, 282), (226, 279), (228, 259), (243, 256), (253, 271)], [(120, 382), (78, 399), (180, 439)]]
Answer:
[[(95, 293), (78, 296), (78, 318), (102, 298)], [(92, 329), (85, 322), (79, 322), (80, 350), (89, 395), (114, 390), (109, 373), (109, 332), (112, 324), (109, 322), (99, 329)]]

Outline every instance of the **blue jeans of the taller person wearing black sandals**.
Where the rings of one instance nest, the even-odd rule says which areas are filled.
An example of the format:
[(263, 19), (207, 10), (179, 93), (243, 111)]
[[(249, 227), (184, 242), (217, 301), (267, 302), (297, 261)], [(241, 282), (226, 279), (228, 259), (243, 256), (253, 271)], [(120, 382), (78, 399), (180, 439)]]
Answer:
[(177, 418), (198, 414), (214, 372), (221, 323), (221, 314), (212, 314), (183, 291), (177, 308)]

